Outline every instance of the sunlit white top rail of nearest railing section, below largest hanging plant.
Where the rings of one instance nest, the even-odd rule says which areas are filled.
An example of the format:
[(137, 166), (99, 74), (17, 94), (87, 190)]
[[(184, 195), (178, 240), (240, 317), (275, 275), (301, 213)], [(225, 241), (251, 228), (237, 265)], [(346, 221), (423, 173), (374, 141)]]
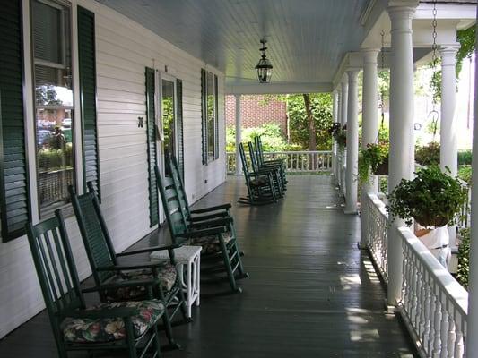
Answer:
[(448, 300), (456, 302), (456, 310), (463, 316), (468, 312), (468, 292), (461, 286), (446, 268), (443, 268), (425, 245), (410, 231), (408, 227), (398, 227), (398, 234), (404, 242), (415, 252), (424, 268), (430, 271), (441, 291), (447, 295)]

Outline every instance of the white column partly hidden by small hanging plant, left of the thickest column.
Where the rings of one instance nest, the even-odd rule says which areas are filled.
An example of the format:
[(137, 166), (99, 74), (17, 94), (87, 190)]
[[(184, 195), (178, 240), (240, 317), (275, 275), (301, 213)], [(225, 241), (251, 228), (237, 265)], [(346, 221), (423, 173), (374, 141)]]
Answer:
[[(377, 56), (379, 50), (366, 48), (363, 54), (363, 90), (362, 90), (362, 119), (361, 119), (361, 147), (375, 143), (378, 139), (378, 70)], [(369, 182), (362, 184), (361, 190), (361, 243), (359, 247), (367, 246), (367, 206), (364, 205), (368, 193), (378, 192), (378, 180), (375, 175), (370, 175)]]

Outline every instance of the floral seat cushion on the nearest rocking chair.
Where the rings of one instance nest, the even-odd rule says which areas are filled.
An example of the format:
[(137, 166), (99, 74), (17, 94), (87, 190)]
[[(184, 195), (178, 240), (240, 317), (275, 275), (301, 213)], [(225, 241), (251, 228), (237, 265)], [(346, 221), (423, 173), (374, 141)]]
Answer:
[[(143, 334), (156, 323), (164, 312), (164, 306), (160, 301), (135, 301), (123, 303), (100, 303), (87, 310), (104, 310), (118, 307), (135, 307), (139, 314), (132, 316), (135, 338)], [(112, 342), (126, 338), (125, 321), (120, 317), (106, 319), (72, 319), (67, 318), (63, 324), (63, 336), (65, 342), (72, 343), (100, 343)]]

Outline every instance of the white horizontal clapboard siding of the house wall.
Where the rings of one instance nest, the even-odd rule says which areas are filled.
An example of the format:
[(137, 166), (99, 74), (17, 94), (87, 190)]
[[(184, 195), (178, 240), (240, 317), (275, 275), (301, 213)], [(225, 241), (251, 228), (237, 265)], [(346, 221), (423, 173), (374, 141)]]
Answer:
[[(146, 128), (137, 126), (137, 117), (146, 117), (145, 66), (163, 71), (167, 65), (169, 75), (183, 81), (185, 184), (191, 202), (225, 180), (224, 77), (101, 4), (72, 1), (73, 8), (77, 4), (96, 18), (101, 208), (117, 251), (123, 251), (152, 230)], [(201, 68), (219, 76), (220, 158), (208, 166), (201, 162)], [(37, 205), (36, 193), (32, 205)], [(91, 274), (83, 243), (74, 217), (66, 223), (83, 279)], [(0, 243), (0, 287), (0, 337), (4, 337), (44, 307), (25, 237)]]

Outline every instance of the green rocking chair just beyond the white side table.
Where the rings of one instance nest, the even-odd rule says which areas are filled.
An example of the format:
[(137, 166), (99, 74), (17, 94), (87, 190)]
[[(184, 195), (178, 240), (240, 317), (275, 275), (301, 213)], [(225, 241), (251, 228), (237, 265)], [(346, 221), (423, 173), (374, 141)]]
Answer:
[[(172, 242), (178, 245), (189, 244), (202, 247), (203, 283), (227, 279), (232, 293), (242, 292), (242, 289), (237, 286), (236, 280), (248, 277), (248, 273), (242, 265), (235, 233), (228, 230), (232, 218), (217, 217), (188, 223), (187, 217), (183, 213), (183, 204), (179, 200), (175, 179), (171, 176), (162, 178), (158, 166), (155, 166), (154, 169)], [(225, 277), (216, 276), (223, 272), (226, 273)], [(204, 274), (213, 276), (213, 279), (205, 280)]]

